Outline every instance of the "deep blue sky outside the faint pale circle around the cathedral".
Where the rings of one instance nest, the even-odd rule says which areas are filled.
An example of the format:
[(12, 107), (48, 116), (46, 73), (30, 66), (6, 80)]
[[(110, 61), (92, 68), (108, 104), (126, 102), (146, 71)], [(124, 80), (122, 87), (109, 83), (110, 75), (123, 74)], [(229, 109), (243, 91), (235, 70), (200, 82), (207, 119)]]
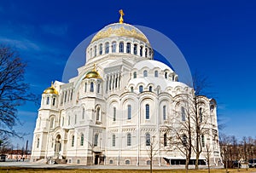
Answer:
[[(192, 72), (209, 78), (218, 118), (227, 135), (255, 137), (256, 2), (208, 1), (12, 1), (0, 3), (0, 43), (14, 46), (27, 62), (26, 82), (41, 95), (62, 72), (73, 49), (103, 26), (119, 20), (147, 26), (171, 38)], [(32, 142), (38, 107), (19, 108)], [(14, 145), (16, 145), (14, 143)]]

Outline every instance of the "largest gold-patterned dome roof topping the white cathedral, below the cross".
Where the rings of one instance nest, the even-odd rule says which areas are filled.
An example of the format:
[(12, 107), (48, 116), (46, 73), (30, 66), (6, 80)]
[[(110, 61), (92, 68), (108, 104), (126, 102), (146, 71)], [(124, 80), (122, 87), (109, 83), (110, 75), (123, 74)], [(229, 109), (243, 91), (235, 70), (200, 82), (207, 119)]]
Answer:
[(149, 43), (148, 38), (137, 27), (126, 23), (113, 23), (103, 27), (103, 29), (96, 33), (91, 39), (90, 43), (105, 37), (135, 37), (144, 43)]

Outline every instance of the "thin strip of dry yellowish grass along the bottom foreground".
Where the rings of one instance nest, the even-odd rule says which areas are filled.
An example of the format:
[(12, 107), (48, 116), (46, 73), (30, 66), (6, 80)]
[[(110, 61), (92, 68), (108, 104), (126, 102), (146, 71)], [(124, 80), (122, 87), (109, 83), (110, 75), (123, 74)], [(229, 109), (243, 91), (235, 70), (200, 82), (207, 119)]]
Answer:
[[(225, 173), (226, 170), (211, 170), (211, 173)], [(149, 170), (61, 170), (53, 168), (20, 168), (20, 167), (0, 167), (0, 173), (148, 173)], [(154, 173), (185, 173), (186, 170), (154, 170)], [(207, 173), (208, 170), (189, 170), (189, 173)], [(229, 169), (229, 173), (238, 172), (237, 169)], [(239, 173), (256, 172), (255, 168), (240, 169)]]

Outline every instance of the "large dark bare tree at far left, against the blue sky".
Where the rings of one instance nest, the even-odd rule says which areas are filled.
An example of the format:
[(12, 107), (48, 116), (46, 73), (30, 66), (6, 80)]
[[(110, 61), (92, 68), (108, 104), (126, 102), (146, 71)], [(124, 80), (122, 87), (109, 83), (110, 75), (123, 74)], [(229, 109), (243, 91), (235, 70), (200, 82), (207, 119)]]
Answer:
[(13, 127), (20, 123), (17, 107), (26, 101), (35, 101), (35, 95), (28, 94), (29, 85), (25, 83), (26, 63), (18, 53), (5, 45), (0, 45), (0, 133), (20, 136)]

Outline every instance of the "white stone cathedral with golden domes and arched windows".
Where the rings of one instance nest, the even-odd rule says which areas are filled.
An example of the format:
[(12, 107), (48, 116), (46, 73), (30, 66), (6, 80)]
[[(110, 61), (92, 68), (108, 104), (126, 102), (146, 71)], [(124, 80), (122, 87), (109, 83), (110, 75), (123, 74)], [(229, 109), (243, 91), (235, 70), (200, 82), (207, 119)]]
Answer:
[(195, 95), (170, 66), (154, 61), (148, 38), (119, 13), (119, 22), (103, 27), (84, 48), (78, 75), (44, 90), (32, 162), (184, 164), (199, 123), (199, 163), (206, 164), (209, 153), (210, 163), (218, 164), (216, 101)]

